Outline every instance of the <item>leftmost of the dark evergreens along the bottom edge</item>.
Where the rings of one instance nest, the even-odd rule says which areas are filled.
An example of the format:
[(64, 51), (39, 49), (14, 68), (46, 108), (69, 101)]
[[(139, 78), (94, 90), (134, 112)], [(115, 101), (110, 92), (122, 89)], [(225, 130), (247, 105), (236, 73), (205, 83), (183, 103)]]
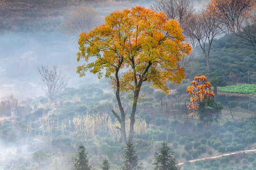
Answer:
[(79, 145), (75, 154), (74, 170), (92, 170), (91, 166), (89, 166), (89, 157), (87, 155), (88, 152), (86, 152), (84, 145)]

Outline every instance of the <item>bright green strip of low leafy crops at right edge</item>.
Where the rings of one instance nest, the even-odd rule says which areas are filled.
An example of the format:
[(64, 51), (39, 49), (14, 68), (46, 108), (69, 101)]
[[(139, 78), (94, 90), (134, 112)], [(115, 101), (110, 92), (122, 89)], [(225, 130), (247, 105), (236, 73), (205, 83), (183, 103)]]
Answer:
[(217, 89), (219, 92), (256, 95), (256, 85), (249, 85), (249, 84), (228, 85), (226, 87), (217, 87)]

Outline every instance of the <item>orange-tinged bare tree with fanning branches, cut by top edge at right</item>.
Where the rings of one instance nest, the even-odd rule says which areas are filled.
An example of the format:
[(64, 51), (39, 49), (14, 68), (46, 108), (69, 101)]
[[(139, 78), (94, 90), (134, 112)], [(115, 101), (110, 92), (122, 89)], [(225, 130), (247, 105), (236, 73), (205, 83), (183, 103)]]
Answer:
[(225, 24), (224, 31), (236, 34), (241, 31), (242, 23), (255, 0), (210, 0), (208, 8), (218, 21)]

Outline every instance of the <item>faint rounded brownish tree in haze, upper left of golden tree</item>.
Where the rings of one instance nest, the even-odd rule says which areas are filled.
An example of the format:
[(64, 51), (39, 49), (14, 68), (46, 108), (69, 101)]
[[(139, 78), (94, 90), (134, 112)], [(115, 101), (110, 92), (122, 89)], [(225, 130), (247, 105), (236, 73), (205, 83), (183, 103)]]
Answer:
[(64, 33), (79, 35), (81, 32), (88, 32), (94, 26), (100, 23), (100, 17), (97, 10), (92, 8), (81, 8), (74, 11), (64, 21)]

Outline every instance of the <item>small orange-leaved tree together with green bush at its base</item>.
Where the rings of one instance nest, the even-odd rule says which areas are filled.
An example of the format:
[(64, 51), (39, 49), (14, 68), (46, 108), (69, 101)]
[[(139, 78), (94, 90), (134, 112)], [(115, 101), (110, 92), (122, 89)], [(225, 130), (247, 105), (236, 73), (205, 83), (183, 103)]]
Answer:
[(215, 101), (214, 93), (210, 91), (211, 85), (206, 81), (206, 77), (195, 76), (191, 85), (187, 87), (187, 93), (190, 95), (188, 109), (194, 110), (190, 117), (195, 116), (202, 123), (218, 121), (223, 106)]

